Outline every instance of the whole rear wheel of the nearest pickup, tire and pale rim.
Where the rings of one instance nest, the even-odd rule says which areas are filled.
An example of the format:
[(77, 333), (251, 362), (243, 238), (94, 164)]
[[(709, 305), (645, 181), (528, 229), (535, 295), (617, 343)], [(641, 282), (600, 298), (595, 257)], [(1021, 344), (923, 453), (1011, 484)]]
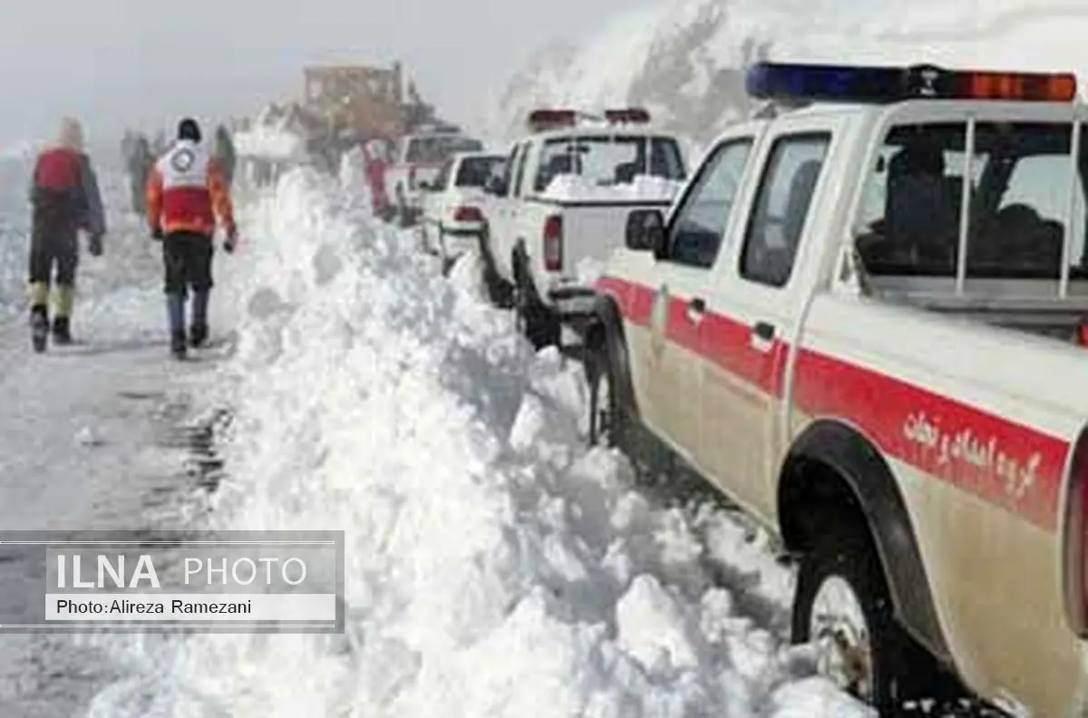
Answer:
[[(816, 648), (817, 671), (881, 716), (901, 715), (916, 698), (907, 681), (929, 667), (895, 620), (876, 548), (864, 525), (823, 524), (801, 560), (792, 640)], [(913, 681), (912, 681), (913, 682)]]

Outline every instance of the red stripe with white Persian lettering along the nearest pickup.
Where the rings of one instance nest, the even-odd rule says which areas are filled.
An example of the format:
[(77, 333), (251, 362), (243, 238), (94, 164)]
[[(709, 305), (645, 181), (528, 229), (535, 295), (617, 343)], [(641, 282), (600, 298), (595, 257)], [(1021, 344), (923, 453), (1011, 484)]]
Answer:
[[(627, 321), (650, 326), (653, 289), (616, 277), (603, 277), (597, 289), (615, 298)], [(670, 301), (670, 342), (769, 396), (783, 397), (787, 343), (776, 341), (763, 354), (751, 346), (752, 329), (743, 322), (707, 311), (696, 329), (685, 312), (687, 302)], [(1058, 527), (1070, 449), (1061, 437), (807, 348), (798, 355), (792, 400), (808, 417), (856, 426), (886, 456), (930, 478), (1047, 531)]]

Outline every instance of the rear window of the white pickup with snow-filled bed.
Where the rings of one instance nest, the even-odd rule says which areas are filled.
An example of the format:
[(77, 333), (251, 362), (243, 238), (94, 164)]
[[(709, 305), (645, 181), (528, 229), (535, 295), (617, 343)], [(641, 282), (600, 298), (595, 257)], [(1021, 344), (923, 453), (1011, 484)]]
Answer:
[(671, 137), (616, 135), (559, 137), (541, 148), (533, 188), (544, 191), (561, 174), (584, 177), (596, 185), (631, 184), (636, 175), (680, 182), (683, 161)]

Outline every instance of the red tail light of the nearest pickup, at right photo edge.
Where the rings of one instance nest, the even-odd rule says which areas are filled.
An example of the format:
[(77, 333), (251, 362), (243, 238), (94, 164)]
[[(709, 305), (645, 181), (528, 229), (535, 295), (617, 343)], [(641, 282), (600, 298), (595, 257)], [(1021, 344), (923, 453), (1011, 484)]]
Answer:
[(1088, 637), (1088, 426), (1070, 454), (1062, 517), (1062, 581), (1070, 628)]

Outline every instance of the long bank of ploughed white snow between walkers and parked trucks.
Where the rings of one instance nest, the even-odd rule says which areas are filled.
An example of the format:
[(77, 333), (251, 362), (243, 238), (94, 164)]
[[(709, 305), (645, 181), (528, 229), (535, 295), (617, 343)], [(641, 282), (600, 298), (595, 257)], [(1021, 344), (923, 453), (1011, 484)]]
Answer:
[(347, 633), (114, 639), (129, 678), (89, 715), (861, 715), (712, 585), (700, 536), (744, 531), (580, 448), (577, 367), (371, 224), (360, 180), (289, 173), (224, 270), (235, 420), (208, 519), (344, 529)]

